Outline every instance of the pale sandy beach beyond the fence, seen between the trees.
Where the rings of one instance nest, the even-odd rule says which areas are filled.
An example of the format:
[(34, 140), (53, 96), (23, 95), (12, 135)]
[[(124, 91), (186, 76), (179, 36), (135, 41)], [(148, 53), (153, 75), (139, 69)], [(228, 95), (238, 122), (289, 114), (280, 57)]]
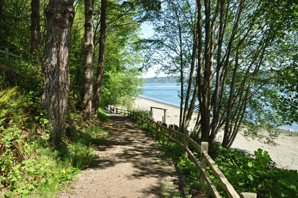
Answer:
[[(150, 107), (167, 109), (166, 123), (179, 125), (180, 108), (174, 105), (169, 105), (154, 100), (138, 97), (135, 101), (135, 108), (139, 110), (150, 111)], [(164, 111), (153, 109), (153, 118), (155, 121), (162, 121)], [(194, 116), (196, 117), (196, 116)], [(195, 126), (193, 119), (188, 128), (191, 131)], [(220, 141), (223, 138), (223, 133), (219, 133), (216, 140)], [(263, 151), (268, 151), (272, 160), (277, 164), (278, 168), (298, 170), (298, 136), (289, 136), (287, 133), (281, 133), (276, 139), (277, 145), (264, 144), (252, 138), (245, 138), (241, 132), (237, 134), (231, 148), (236, 148), (246, 153), (253, 154), (258, 148)]]

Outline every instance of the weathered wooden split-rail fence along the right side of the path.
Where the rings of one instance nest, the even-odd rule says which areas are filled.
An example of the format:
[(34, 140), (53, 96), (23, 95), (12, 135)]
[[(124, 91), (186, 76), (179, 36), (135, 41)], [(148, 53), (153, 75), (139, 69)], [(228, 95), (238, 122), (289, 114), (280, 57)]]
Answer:
[[(192, 138), (188, 136), (187, 134), (188, 132), (186, 132), (185, 134), (181, 132), (177, 132), (173, 129), (173, 125), (169, 125), (169, 127), (165, 127), (162, 125), (161, 121), (154, 122), (153, 118), (150, 118), (149, 116), (145, 117), (143, 114), (139, 114), (138, 112), (135, 112), (135, 111), (128, 111), (128, 110), (122, 110), (122, 109), (116, 108), (116, 113), (127, 115), (132, 119), (141, 121), (143, 124), (146, 123), (148, 127), (148, 131), (156, 132), (156, 138), (158, 138), (159, 135), (162, 134), (163, 136), (168, 138), (168, 144), (170, 144), (171, 142), (174, 142), (177, 145), (179, 145), (182, 149), (184, 149), (184, 156), (190, 157), (192, 162), (200, 170), (200, 185), (204, 186), (205, 183), (207, 183), (214, 198), (221, 198), (221, 196), (218, 193), (217, 189), (215, 188), (209, 175), (207, 174), (207, 171), (206, 171), (207, 164), (209, 165), (215, 177), (220, 181), (228, 198), (256, 198), (257, 197), (255, 193), (241, 193), (240, 196), (237, 194), (237, 192), (234, 190), (232, 185), (225, 178), (222, 171), (217, 167), (215, 162), (208, 154), (208, 142), (202, 142), (202, 146), (200, 146), (197, 142), (195, 142)], [(183, 138), (184, 143), (175, 139), (173, 136)], [(188, 148), (189, 143), (201, 153), (200, 161), (197, 159), (195, 154)]]

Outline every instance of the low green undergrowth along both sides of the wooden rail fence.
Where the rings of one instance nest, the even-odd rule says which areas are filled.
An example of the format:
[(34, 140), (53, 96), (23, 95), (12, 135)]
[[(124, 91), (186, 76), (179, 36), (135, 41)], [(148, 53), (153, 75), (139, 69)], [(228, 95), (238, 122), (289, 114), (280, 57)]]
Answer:
[[(137, 122), (144, 130), (148, 129), (146, 123)], [(181, 140), (179, 139), (181, 142)], [(174, 161), (183, 176), (184, 189), (190, 194), (193, 191), (203, 191), (206, 197), (213, 197), (207, 184), (200, 187), (200, 171), (194, 163), (183, 156), (183, 149), (175, 143), (168, 142), (160, 136), (157, 142)], [(197, 139), (200, 143), (200, 140)], [(199, 151), (191, 145), (189, 148), (200, 160)], [(228, 182), (240, 195), (243, 192), (256, 193), (258, 198), (297, 198), (298, 197), (298, 172), (297, 170), (284, 170), (275, 167), (267, 151), (258, 149), (253, 155), (246, 155), (236, 149), (226, 149), (215, 142), (209, 146), (211, 155), (218, 168), (223, 172)], [(227, 198), (226, 192), (216, 179), (209, 166), (207, 172), (222, 198)], [(192, 197), (190, 195), (190, 197)]]

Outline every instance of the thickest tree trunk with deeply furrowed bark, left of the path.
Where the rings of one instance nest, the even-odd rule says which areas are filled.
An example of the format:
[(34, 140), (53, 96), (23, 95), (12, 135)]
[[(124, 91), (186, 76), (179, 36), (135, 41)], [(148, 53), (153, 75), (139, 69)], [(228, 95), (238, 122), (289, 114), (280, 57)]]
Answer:
[(47, 39), (43, 59), (41, 106), (50, 115), (52, 140), (57, 147), (63, 134), (70, 85), (70, 52), (74, 22), (73, 0), (50, 0), (45, 9)]

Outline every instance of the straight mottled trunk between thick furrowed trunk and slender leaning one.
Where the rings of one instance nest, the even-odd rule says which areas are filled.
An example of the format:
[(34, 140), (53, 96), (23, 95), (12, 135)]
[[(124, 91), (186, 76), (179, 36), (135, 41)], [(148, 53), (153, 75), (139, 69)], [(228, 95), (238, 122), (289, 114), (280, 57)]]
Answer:
[(94, 66), (94, 44), (93, 44), (93, 0), (84, 0), (85, 3), (85, 75), (83, 87), (83, 114), (88, 121), (91, 120), (92, 92), (93, 92), (93, 66)]

